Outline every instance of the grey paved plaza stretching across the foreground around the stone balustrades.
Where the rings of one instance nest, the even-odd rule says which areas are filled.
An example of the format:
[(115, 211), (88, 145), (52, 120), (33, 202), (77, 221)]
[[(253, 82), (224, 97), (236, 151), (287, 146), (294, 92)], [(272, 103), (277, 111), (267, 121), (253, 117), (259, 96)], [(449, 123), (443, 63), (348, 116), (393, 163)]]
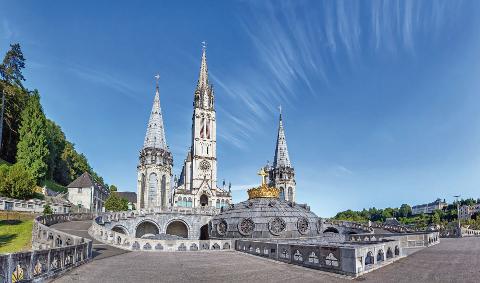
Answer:
[[(90, 225), (70, 222), (56, 229), (86, 236)], [(125, 252), (94, 242), (94, 261), (55, 282), (351, 282), (339, 275), (230, 252)], [(188, 271), (188, 272), (185, 272)], [(442, 239), (440, 244), (354, 281), (478, 282), (480, 238)]]

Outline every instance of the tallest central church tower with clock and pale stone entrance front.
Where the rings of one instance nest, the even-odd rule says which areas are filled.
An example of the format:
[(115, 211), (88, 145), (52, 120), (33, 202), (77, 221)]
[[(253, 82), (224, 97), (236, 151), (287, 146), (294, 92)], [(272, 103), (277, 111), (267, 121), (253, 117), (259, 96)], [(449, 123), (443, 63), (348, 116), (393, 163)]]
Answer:
[(174, 206), (221, 208), (231, 193), (217, 187), (217, 121), (215, 95), (208, 81), (207, 55), (202, 49), (200, 75), (193, 97), (192, 144), (175, 185)]

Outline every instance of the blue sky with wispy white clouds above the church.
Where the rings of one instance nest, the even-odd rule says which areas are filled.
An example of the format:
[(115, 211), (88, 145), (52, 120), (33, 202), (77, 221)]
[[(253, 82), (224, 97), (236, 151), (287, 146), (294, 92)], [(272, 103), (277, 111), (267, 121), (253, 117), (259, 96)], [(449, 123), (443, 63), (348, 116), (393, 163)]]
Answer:
[(320, 216), (480, 197), (478, 1), (2, 1), (0, 51), (109, 184), (134, 191), (161, 74), (178, 174), (208, 42), (219, 182), (272, 160), (282, 105), (297, 199)]

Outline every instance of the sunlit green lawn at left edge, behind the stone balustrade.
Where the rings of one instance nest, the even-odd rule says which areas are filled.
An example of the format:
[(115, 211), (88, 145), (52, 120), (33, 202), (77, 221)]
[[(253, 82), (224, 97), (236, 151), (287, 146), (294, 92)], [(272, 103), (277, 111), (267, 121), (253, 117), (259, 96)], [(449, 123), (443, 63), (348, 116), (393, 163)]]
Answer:
[(31, 249), (33, 219), (0, 220), (0, 254)]

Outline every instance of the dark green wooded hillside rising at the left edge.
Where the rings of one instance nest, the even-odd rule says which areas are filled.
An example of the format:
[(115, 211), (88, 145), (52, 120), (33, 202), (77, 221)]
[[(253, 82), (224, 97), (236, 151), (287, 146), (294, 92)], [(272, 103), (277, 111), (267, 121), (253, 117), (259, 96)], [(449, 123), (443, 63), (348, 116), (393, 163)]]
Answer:
[(24, 87), (25, 62), (17, 43), (0, 65), (0, 195), (28, 198), (44, 184), (61, 190), (85, 171), (104, 184), (61, 127), (45, 117), (40, 92)]

